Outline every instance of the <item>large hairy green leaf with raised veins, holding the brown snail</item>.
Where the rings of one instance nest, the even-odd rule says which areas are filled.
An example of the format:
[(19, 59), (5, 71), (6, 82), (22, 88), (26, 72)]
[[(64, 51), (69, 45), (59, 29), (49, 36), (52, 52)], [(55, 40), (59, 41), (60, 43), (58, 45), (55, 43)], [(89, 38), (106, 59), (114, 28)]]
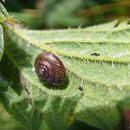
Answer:
[[(66, 130), (75, 120), (107, 130), (119, 125), (121, 109), (130, 106), (127, 22), (57, 31), (7, 27), (5, 35), (0, 68), (10, 87), (2, 102), (28, 130)], [(33, 68), (42, 49), (64, 63), (66, 86), (52, 89), (39, 81)]]

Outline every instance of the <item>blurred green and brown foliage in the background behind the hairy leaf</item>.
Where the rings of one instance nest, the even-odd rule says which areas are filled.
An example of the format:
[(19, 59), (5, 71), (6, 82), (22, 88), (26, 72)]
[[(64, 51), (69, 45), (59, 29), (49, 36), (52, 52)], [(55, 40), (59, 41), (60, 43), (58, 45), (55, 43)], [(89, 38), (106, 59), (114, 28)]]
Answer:
[[(129, 19), (130, 0), (5, 0), (10, 15), (31, 29), (82, 28)], [(69, 130), (97, 130), (76, 121)], [(24, 130), (0, 104), (0, 130)]]

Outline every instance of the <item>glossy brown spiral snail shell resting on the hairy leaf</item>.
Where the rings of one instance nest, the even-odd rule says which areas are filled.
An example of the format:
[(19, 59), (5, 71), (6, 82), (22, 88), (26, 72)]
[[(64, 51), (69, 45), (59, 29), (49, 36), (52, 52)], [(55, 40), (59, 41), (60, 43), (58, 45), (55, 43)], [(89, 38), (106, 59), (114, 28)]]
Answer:
[(35, 71), (39, 79), (48, 85), (62, 85), (66, 71), (62, 61), (51, 52), (43, 51), (35, 60)]

